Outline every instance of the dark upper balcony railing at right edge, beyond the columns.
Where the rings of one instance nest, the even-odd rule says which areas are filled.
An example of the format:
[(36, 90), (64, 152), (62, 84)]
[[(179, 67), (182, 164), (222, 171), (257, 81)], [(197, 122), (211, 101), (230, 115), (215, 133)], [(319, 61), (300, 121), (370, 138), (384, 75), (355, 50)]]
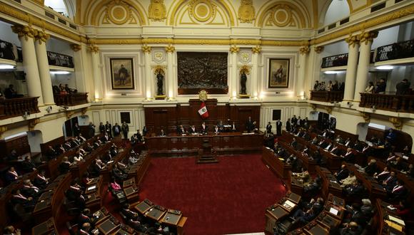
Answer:
[(375, 62), (410, 57), (414, 57), (414, 39), (378, 47)]

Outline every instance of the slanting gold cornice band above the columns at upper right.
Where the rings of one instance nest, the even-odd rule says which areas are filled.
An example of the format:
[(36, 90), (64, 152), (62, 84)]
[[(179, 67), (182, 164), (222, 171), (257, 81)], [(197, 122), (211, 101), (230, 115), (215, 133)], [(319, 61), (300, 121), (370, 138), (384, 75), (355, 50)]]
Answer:
[(335, 31), (333, 33), (329, 33), (325, 36), (321, 36), (319, 38), (315, 38), (312, 40), (313, 44), (319, 44), (324, 43), (325, 41), (330, 41), (335, 38), (340, 38), (343, 36), (346, 36), (350, 33), (355, 33), (358, 31), (365, 31), (365, 28), (370, 28), (373, 26), (378, 26), (382, 23), (388, 23), (390, 21), (394, 21), (396, 19), (403, 18), (405, 16), (410, 16), (414, 14), (414, 4), (411, 4), (410, 6), (405, 6), (402, 9), (398, 9), (392, 12), (389, 12), (387, 14), (383, 14), (382, 16), (377, 16), (373, 19), (369, 19), (360, 23), (356, 23), (353, 26), (348, 26), (345, 28), (340, 29), (339, 31)]

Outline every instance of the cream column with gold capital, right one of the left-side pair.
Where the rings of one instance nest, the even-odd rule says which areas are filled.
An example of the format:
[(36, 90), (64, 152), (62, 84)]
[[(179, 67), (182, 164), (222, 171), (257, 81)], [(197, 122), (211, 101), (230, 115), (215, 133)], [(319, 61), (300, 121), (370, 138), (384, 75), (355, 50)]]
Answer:
[(37, 66), (39, 67), (39, 75), (41, 82), (41, 91), (45, 105), (54, 105), (54, 93), (51, 85), (51, 77), (49, 71), (49, 61), (47, 59), (46, 41), (50, 38), (49, 34), (38, 31), (34, 43), (36, 49)]

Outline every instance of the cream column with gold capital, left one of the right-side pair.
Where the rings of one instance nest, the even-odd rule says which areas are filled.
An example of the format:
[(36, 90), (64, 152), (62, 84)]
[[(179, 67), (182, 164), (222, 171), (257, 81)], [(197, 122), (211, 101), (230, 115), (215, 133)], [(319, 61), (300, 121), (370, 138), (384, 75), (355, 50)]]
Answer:
[(355, 93), (356, 68), (358, 66), (359, 40), (357, 36), (345, 38), (348, 43), (348, 65), (346, 66), (343, 101), (352, 101)]

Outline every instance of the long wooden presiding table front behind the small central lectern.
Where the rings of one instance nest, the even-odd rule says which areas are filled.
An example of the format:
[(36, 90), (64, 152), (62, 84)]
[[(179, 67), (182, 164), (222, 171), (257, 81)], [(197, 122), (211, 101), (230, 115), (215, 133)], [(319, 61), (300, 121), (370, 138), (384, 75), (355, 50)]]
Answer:
[(168, 135), (146, 137), (148, 153), (151, 157), (196, 156), (208, 140), (212, 150), (218, 155), (231, 155), (246, 152), (261, 152), (263, 133), (213, 132), (207, 135)]

